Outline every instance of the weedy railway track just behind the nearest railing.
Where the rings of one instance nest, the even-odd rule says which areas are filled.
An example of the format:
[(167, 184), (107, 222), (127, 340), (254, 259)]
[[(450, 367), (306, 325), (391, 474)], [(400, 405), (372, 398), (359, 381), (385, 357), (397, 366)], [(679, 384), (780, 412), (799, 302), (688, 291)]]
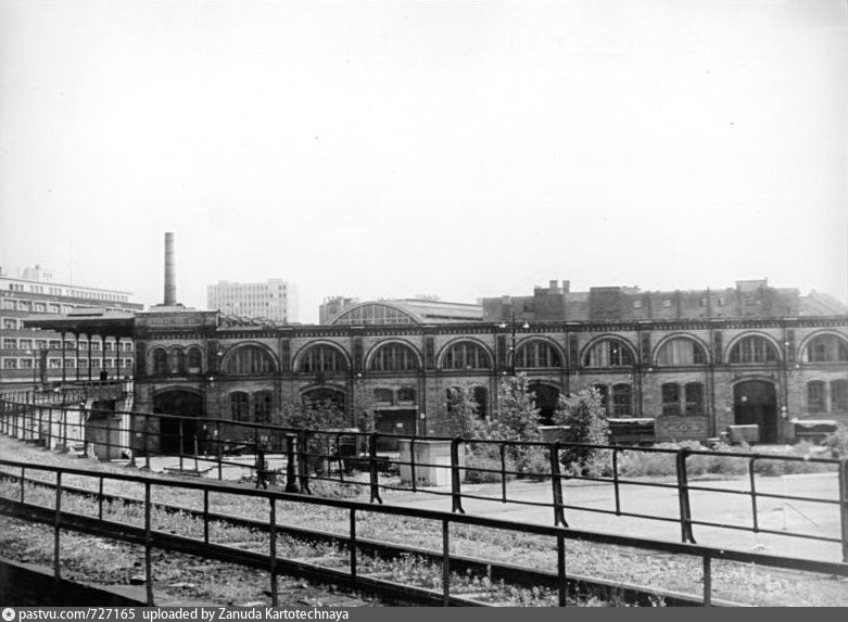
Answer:
[[(0, 470), (0, 477), (7, 482), (11, 482), (13, 486), (21, 485), (21, 475), (10, 472), (8, 470)], [(49, 481), (45, 481), (38, 478), (24, 478), (24, 483), (30, 486), (30, 494), (36, 487), (43, 488), (46, 491), (55, 491), (55, 484)], [(159, 486), (167, 485), (166, 481), (157, 482)], [(79, 498), (86, 498), (89, 500), (97, 500), (98, 504), (98, 521), (102, 522), (102, 525), (111, 525), (111, 529), (115, 529), (115, 533), (98, 529), (96, 535), (102, 537), (117, 537), (121, 540), (127, 540), (128, 542), (135, 542), (134, 538), (138, 537), (137, 531), (123, 531), (127, 525), (112, 523), (111, 521), (103, 520), (103, 508), (114, 507), (115, 505), (123, 505), (127, 507), (142, 508), (144, 500), (127, 495), (107, 494), (101, 490), (92, 490), (90, 487), (72, 486), (67, 484), (62, 485), (63, 494), (72, 494)], [(202, 521), (204, 523), (213, 522), (217, 524), (225, 524), (232, 528), (239, 528), (250, 530), (253, 532), (261, 532), (268, 534), (270, 526), (267, 521), (257, 520), (254, 518), (239, 517), (232, 515), (225, 515), (208, 509), (199, 507), (192, 507), (185, 504), (167, 504), (167, 503), (152, 503), (151, 508), (172, 516), (188, 517), (195, 521)], [(53, 520), (52, 511), (48, 515), (42, 515), (36, 508), (29, 507), (27, 515), (30, 520), (37, 522), (49, 522)], [(79, 517), (79, 519), (88, 519), (89, 517)], [(76, 520), (76, 519), (75, 519)], [(72, 521), (72, 525), (76, 524)], [(79, 523), (80, 526), (91, 528), (92, 523), (88, 520), (83, 520)], [(73, 529), (73, 526), (72, 526)], [(205, 528), (207, 531), (210, 528)], [(302, 576), (304, 579), (324, 579), (332, 580), (334, 584), (340, 587), (349, 587), (352, 585), (346, 577), (346, 573), (334, 573), (332, 566), (340, 566), (347, 563), (346, 556), (343, 554), (336, 556), (327, 556), (327, 546), (332, 547), (340, 551), (350, 551), (354, 546), (352, 540), (347, 535), (339, 533), (330, 533), (327, 531), (320, 531), (315, 529), (308, 529), (304, 526), (282, 524), (277, 522), (276, 532), (278, 535), (287, 538), (293, 538), (302, 543), (319, 543), (326, 545), (320, 550), (325, 551), (325, 555), (317, 561), (301, 559), (279, 560), (278, 568), (284, 569), (286, 573), (294, 576)], [(167, 546), (174, 550), (180, 550), (183, 553), (197, 554), (197, 547), (194, 544), (197, 541), (192, 538), (180, 540), (172, 537), (173, 534), (167, 534), (165, 540), (162, 541), (163, 546)], [(159, 536), (157, 536), (159, 543)], [(202, 541), (201, 541), (202, 543)], [(224, 546), (213, 543), (203, 544), (211, 554), (211, 557), (217, 560), (244, 563), (251, 568), (267, 568), (267, 556), (263, 553), (249, 550), (248, 545), (250, 543), (241, 543), (241, 546)], [(429, 572), (438, 574), (442, 572), (442, 564), (444, 556), (442, 553), (415, 546), (401, 546), (397, 544), (389, 544), (372, 538), (355, 538), (355, 547), (358, 553), (366, 558), (366, 560), (382, 560), (382, 561), (397, 561), (401, 560), (408, 564), (418, 564), (419, 572), (422, 571), (421, 564), (426, 569), (429, 567)], [(392, 599), (406, 598), (407, 601), (416, 605), (433, 605), (443, 604), (443, 595), (433, 591), (419, 592), (408, 586), (400, 586), (397, 582), (391, 581), (392, 570), (384, 570), (380, 563), (371, 562), (360, 559), (358, 561), (360, 569), (363, 567), (369, 568), (375, 566), (376, 569), (371, 575), (359, 575), (356, 588), (372, 593), (375, 596), (382, 596)], [(499, 563), (488, 559), (481, 559), (469, 556), (460, 556), (452, 554), (450, 557), (451, 571), (456, 573), (460, 577), (470, 577), (471, 582), (482, 583), (484, 585), (501, 585), (509, 586), (515, 589), (529, 589), (539, 591), (544, 589), (552, 594), (556, 594), (559, 585), (558, 573), (549, 572), (539, 569), (532, 569), (524, 566)], [(391, 563), (389, 564), (391, 566)], [(396, 569), (395, 569), (396, 570)], [(329, 572), (328, 572), (329, 571)], [(428, 570), (423, 570), (427, 572)], [(401, 570), (403, 573), (403, 570)], [(645, 588), (637, 585), (632, 585), (622, 582), (613, 582), (603, 580), (598, 577), (591, 577), (580, 574), (569, 574), (567, 577), (568, 594), (574, 597), (587, 598), (594, 597), (607, 602), (621, 602), (633, 606), (649, 607), (656, 605), (658, 601), (663, 602), (670, 607), (698, 607), (703, 605), (703, 600), (695, 596), (685, 594), (672, 593), (668, 591), (660, 591), (656, 588)], [(495, 598), (490, 589), (485, 594), (488, 600)], [(480, 599), (452, 596), (451, 605), (453, 606), (488, 606), (496, 602), (488, 602)], [(713, 599), (712, 605), (718, 606), (738, 606), (736, 602), (729, 602), (723, 600)]]

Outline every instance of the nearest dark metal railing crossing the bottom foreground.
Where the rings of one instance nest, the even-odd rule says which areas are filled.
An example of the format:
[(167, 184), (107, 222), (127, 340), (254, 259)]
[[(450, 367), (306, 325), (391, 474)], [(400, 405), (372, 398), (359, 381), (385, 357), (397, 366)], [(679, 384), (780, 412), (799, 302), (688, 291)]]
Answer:
[[(240, 563), (242, 566), (264, 569), (269, 574), (270, 597), (274, 606), (279, 604), (279, 593), (277, 576), (287, 571), (294, 571), (300, 574), (312, 572), (316, 577), (329, 580), (333, 583), (343, 584), (353, 588), (366, 588), (371, 592), (384, 591), (385, 593), (397, 593), (397, 584), (379, 581), (364, 575), (358, 571), (359, 550), (357, 545), (357, 524), (363, 515), (378, 513), (381, 516), (398, 516), (414, 519), (425, 519), (436, 521), (441, 524), (441, 601), (442, 605), (468, 604), (452, 594), (452, 583), (455, 581), (452, 576), (452, 557), (456, 554), (451, 551), (452, 529), (455, 525), (473, 525), (481, 530), (497, 530), (511, 533), (536, 535), (548, 537), (555, 546), (548, 548), (556, 558), (557, 568), (557, 594), (559, 606), (566, 606), (568, 602), (568, 579), (566, 542), (583, 541), (599, 545), (617, 545), (624, 547), (635, 547), (642, 550), (658, 551), (678, 556), (689, 556), (701, 559), (703, 568), (703, 593), (701, 604), (710, 606), (712, 604), (712, 562), (714, 560), (727, 560), (741, 563), (752, 563), (768, 568), (782, 568), (803, 572), (822, 573), (828, 576), (848, 576), (848, 564), (838, 562), (814, 561), (800, 558), (777, 557), (758, 553), (737, 551), (726, 548), (717, 548), (709, 546), (699, 546), (688, 543), (672, 543), (643, 537), (623, 536), (609, 533), (599, 533), (586, 530), (569, 529), (561, 525), (548, 526), (540, 524), (518, 523), (499, 519), (485, 518), (480, 516), (469, 516), (457, 512), (445, 512), (438, 510), (428, 510), (420, 508), (405, 508), (398, 506), (383, 506), (367, 504), (364, 502), (344, 500), (326, 497), (304, 496), (292, 493), (251, 490), (239, 486), (224, 485), (214, 482), (204, 481), (172, 481), (156, 479), (143, 474), (124, 474), (105, 473), (102, 471), (91, 471), (87, 469), (54, 467), (20, 462), (15, 460), (0, 459), (0, 466), (5, 471), (21, 471), (20, 493), (14, 496), (0, 495), (0, 513), (23, 518), (35, 522), (51, 524), (53, 526), (53, 573), (56, 579), (61, 577), (61, 533), (62, 530), (73, 530), (83, 533), (123, 540), (144, 547), (144, 573), (147, 587), (147, 601), (154, 605), (153, 593), (153, 548), (166, 550), (176, 550), (191, 555), (200, 555), (214, 559), (222, 559), (229, 562)], [(25, 473), (26, 471), (42, 471), (54, 474), (54, 496), (52, 506), (34, 504), (25, 495)], [(83, 475), (87, 478), (97, 478), (99, 480), (99, 511), (98, 516), (88, 516), (83, 513), (69, 512), (63, 509), (63, 499), (76, 491), (66, 490), (65, 482), (71, 479), (69, 475)], [(132, 482), (142, 484), (143, 495), (143, 526), (136, 526), (126, 521), (114, 522), (103, 515), (103, 486), (104, 481), (110, 482)], [(152, 515), (156, 504), (153, 500), (153, 487), (167, 487), (178, 490), (200, 491), (203, 494), (203, 537), (190, 537), (174, 533), (174, 525), (169, 525), (167, 531), (154, 530), (152, 526)], [(230, 546), (217, 544), (210, 538), (210, 521), (215, 520), (210, 517), (210, 495), (211, 494), (236, 495), (239, 497), (253, 497), (264, 499), (267, 504), (268, 519), (267, 531), (269, 534), (267, 553), (256, 553), (244, 549), (238, 549)], [(325, 566), (313, 566), (303, 560), (290, 560), (278, 557), (277, 523), (278, 504), (309, 504), (326, 508), (336, 508), (346, 510), (350, 518), (350, 529), (346, 536), (339, 536), (333, 533), (333, 537), (341, 537), (349, 551), (346, 570), (327, 568)], [(329, 534), (329, 532), (327, 532)], [(438, 553), (433, 551), (436, 556)], [(674, 572), (674, 570), (669, 570)], [(433, 596), (432, 589), (416, 589), (414, 587), (404, 587), (407, 594), (417, 594), (425, 598), (428, 595)]]

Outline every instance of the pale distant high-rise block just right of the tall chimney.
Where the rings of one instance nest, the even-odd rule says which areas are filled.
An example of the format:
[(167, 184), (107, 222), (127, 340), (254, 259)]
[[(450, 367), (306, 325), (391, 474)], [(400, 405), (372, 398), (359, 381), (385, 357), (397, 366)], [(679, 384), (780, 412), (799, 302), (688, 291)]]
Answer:
[(298, 321), (298, 285), (282, 279), (265, 283), (218, 281), (208, 285), (206, 304), (225, 315), (268, 319), (282, 323)]

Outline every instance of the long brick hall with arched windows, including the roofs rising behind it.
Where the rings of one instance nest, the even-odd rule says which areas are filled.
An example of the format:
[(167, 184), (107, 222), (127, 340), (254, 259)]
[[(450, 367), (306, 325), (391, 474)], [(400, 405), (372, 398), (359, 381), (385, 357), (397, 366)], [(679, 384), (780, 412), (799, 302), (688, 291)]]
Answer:
[[(479, 305), (347, 300), (337, 310), (312, 326), (137, 313), (136, 409), (270, 422), (287, 399), (330, 398), (352, 424), (369, 409), (380, 431), (441, 435), (453, 430), (448, 389), (473, 388), (490, 416), (498, 380), (523, 372), (543, 417), (559, 395), (596, 386), (610, 419), (650, 419), (657, 441), (756, 424), (760, 442), (785, 442), (792, 420), (848, 424), (845, 306), (765, 280), (674, 292), (552, 281)], [(30, 323), (61, 330), (62, 318)]]

